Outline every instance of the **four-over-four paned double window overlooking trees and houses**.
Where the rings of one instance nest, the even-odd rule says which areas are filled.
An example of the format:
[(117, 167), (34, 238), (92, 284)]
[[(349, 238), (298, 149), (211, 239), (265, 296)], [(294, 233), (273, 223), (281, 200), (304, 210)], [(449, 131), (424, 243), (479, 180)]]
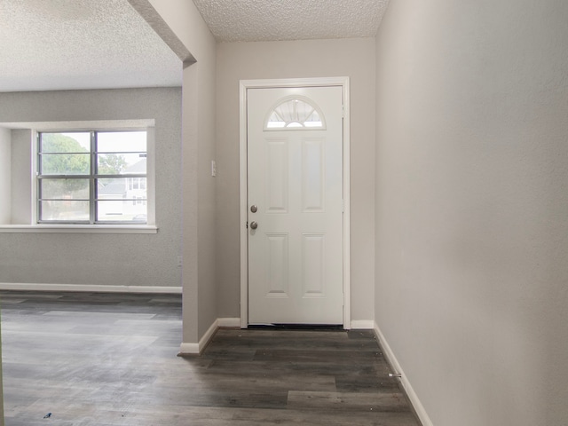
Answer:
[(37, 223), (147, 223), (146, 130), (40, 131)]

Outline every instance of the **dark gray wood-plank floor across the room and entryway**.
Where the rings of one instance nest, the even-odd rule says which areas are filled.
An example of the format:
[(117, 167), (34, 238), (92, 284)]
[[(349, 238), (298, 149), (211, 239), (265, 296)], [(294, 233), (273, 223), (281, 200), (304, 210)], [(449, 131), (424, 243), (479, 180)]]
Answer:
[(0, 292), (6, 426), (417, 426), (371, 331), (220, 329), (181, 297)]

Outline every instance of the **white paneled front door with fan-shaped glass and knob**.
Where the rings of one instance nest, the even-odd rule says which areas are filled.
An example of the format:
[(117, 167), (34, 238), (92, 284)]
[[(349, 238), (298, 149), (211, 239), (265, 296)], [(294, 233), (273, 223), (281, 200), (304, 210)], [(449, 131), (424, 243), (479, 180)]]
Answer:
[(343, 91), (247, 90), (248, 323), (343, 324)]

